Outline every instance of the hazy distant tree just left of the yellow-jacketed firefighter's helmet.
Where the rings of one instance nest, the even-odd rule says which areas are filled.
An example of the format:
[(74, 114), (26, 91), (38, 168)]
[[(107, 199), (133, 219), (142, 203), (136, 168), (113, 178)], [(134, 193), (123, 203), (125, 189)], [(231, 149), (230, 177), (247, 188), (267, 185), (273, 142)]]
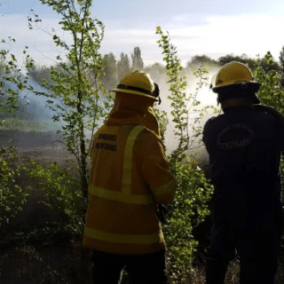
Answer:
[(117, 66), (113, 52), (108, 53), (103, 58), (104, 75), (101, 80), (106, 90), (111, 90), (117, 84)]

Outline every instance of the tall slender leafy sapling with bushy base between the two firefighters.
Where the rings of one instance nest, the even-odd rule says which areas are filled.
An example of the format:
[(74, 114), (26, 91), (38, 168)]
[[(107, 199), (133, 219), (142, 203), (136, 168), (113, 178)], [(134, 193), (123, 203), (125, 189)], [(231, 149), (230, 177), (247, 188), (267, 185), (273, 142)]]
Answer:
[[(174, 135), (178, 140), (177, 148), (170, 154), (169, 160), (173, 173), (177, 179), (177, 192), (174, 201), (170, 206), (172, 210), (168, 216), (168, 222), (163, 227), (167, 241), (167, 262), (170, 278), (173, 283), (189, 283), (191, 280), (191, 264), (198, 241), (193, 238), (193, 228), (200, 225), (206, 216), (209, 215), (208, 202), (213, 192), (205, 178), (205, 174), (198, 167), (198, 162), (193, 158), (185, 158), (185, 151), (196, 138), (201, 135), (201, 118), (210, 106), (202, 110), (195, 109), (200, 102), (196, 99), (200, 88), (206, 83), (208, 71), (200, 67), (193, 75), (200, 79), (195, 93), (186, 95), (186, 77), (180, 76), (183, 67), (177, 58), (177, 49), (170, 43), (170, 36), (164, 35), (160, 27), (157, 34), (161, 35), (158, 41), (164, 54), (167, 75), (170, 83), (172, 122), (175, 123)], [(192, 135), (190, 132), (189, 116), (197, 114), (194, 118)], [(161, 114), (160, 118), (166, 114)], [(158, 116), (159, 117), (159, 116)], [(162, 130), (166, 129), (166, 120), (161, 120)], [(162, 134), (163, 137), (163, 134)], [(169, 207), (170, 207), (169, 206)]]

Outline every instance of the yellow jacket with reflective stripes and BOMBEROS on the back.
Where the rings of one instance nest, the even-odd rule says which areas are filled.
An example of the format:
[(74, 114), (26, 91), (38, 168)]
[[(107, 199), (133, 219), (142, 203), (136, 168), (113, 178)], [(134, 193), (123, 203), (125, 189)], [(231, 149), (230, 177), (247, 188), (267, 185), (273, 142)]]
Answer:
[(168, 203), (176, 183), (157, 125), (151, 111), (118, 111), (95, 134), (84, 246), (118, 254), (165, 247), (150, 191)]

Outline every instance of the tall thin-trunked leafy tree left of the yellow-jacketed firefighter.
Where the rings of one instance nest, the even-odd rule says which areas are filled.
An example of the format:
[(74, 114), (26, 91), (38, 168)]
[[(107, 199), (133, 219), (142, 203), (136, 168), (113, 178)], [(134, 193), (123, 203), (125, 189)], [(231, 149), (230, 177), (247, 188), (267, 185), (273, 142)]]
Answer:
[[(51, 78), (43, 80), (46, 92), (36, 92), (48, 98), (47, 106), (55, 112), (52, 119), (64, 122), (62, 135), (66, 139), (68, 150), (77, 159), (83, 196), (88, 197), (88, 155), (91, 151), (90, 140), (101, 119), (110, 108), (110, 101), (103, 96), (99, 79), (103, 64), (99, 53), (104, 35), (101, 21), (91, 18), (91, 0), (40, 0), (50, 6), (62, 17), (59, 24), (68, 32), (72, 43), (60, 38), (54, 30), (48, 32), (53, 43), (63, 49), (66, 59), (57, 56), (60, 69), (51, 67)], [(28, 18), (29, 28), (39, 27), (38, 15)], [(34, 24), (34, 25), (33, 25)]]

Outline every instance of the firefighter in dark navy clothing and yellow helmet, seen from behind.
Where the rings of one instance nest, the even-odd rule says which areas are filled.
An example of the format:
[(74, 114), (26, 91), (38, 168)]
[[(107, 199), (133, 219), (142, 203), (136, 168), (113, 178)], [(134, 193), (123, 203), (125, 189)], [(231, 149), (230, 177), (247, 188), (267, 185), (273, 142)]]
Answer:
[(259, 105), (260, 83), (240, 62), (221, 67), (212, 85), (224, 114), (209, 119), (203, 130), (215, 186), (207, 284), (224, 283), (235, 252), (241, 284), (272, 284), (282, 233), (283, 117)]

